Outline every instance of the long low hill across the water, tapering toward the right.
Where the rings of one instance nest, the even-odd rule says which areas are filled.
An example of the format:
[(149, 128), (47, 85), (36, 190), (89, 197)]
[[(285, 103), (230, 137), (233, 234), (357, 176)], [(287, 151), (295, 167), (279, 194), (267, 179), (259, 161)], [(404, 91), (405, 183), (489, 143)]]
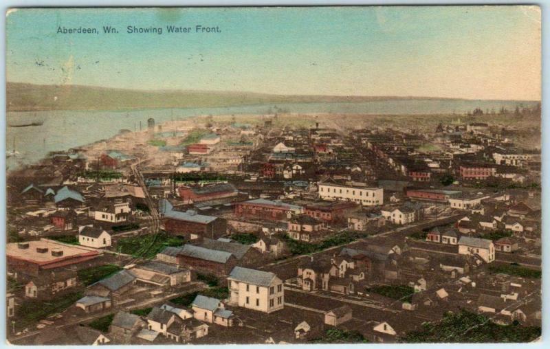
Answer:
[(367, 102), (372, 100), (452, 100), (452, 98), (270, 95), (224, 91), (142, 91), (83, 85), (56, 86), (8, 82), (8, 111), (128, 110), (206, 108), (270, 103)]

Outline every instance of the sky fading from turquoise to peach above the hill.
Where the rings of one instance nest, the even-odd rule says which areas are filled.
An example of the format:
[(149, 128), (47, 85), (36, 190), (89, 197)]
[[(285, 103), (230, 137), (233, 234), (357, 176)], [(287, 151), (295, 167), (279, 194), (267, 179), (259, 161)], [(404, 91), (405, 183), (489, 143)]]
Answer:
[[(540, 99), (536, 7), (25, 9), (6, 23), (14, 82)], [(170, 24), (221, 33), (167, 34)], [(56, 34), (103, 25), (120, 34)]]

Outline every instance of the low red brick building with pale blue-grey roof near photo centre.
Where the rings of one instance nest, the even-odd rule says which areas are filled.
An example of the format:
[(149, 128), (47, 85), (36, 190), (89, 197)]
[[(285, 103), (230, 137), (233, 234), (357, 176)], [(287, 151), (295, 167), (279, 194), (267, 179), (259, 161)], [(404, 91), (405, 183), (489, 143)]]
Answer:
[(287, 221), (302, 212), (303, 207), (301, 206), (265, 199), (249, 200), (235, 205), (236, 216), (267, 221)]

